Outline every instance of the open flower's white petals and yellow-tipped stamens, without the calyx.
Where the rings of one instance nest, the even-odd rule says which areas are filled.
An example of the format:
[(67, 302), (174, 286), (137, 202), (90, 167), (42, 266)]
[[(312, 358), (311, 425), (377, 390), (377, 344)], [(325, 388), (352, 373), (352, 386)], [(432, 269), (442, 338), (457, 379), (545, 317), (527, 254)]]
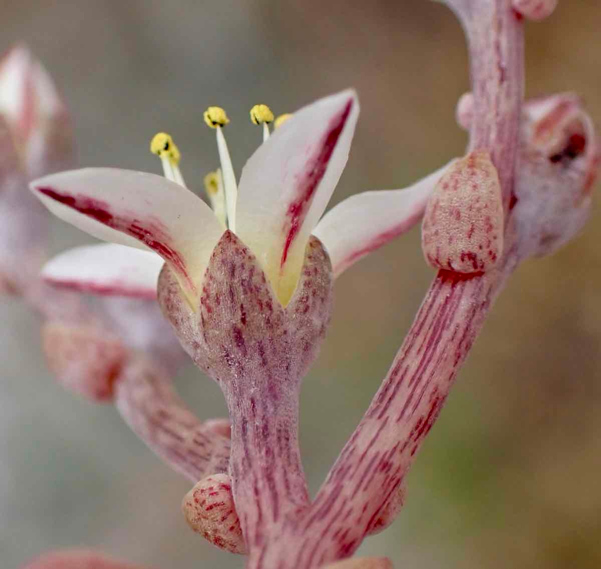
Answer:
[(264, 105), (253, 107), (251, 119), (263, 124), (264, 142), (237, 184), (223, 134), (227, 115), (220, 107), (209, 107), (204, 119), (216, 130), (221, 160), (221, 170), (207, 179), (213, 211), (185, 187), (180, 152), (165, 133), (153, 139), (151, 149), (161, 158), (168, 179), (88, 168), (32, 182), (32, 191), (58, 217), (129, 247), (67, 251), (46, 267), (46, 278), (92, 292), (153, 295), (161, 262), (148, 254), (150, 249), (174, 272), (189, 304), (196, 307), (210, 256), (230, 230), (257, 257), (276, 298), (286, 306), (312, 233), (328, 251), (334, 273), (340, 274), (412, 226), (438, 179), (439, 173), (409, 190), (353, 196), (319, 221), (346, 164), (358, 112), (355, 93), (343, 91), (279, 121), (270, 134), (273, 114)]

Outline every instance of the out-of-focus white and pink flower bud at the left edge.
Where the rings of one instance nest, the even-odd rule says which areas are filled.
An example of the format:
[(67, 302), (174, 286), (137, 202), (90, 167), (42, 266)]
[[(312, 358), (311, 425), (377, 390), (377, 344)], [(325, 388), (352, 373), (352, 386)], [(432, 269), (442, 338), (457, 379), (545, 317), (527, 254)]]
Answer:
[(0, 292), (23, 293), (46, 254), (46, 212), (27, 191), (73, 155), (66, 108), (46, 70), (24, 46), (0, 59)]

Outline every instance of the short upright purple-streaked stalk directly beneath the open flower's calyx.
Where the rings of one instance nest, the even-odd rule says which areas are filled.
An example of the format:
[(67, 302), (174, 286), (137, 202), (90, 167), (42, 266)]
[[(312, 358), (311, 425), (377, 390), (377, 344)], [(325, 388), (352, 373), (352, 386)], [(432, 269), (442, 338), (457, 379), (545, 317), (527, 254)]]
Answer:
[[(225, 390), (230, 409), (230, 474), (249, 550), (263, 550), (309, 494), (297, 440), (297, 385), (245, 378)], [(261, 566), (261, 565), (258, 565)]]

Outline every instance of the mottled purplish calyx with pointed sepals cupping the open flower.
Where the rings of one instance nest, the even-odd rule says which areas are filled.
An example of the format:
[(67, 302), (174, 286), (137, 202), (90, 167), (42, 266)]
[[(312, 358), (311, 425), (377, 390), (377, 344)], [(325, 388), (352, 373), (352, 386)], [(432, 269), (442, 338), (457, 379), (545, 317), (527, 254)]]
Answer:
[(183, 298), (165, 266), (158, 298), (183, 348), (215, 381), (245, 376), (297, 381), (314, 360), (331, 315), (332, 268), (317, 238), (305, 250), (301, 280), (282, 307), (257, 259), (227, 231), (213, 250), (200, 305)]

